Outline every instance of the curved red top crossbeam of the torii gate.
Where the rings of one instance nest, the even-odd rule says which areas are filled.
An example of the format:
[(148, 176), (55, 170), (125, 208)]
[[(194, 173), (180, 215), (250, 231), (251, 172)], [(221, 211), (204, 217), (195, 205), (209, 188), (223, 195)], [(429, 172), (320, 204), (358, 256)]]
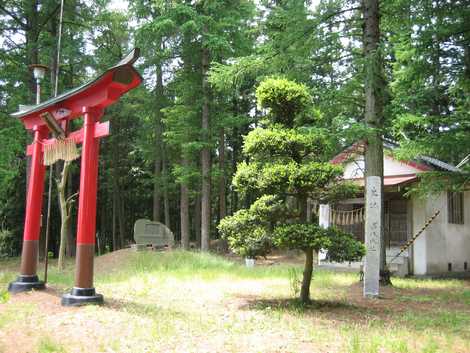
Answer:
[(46, 112), (60, 121), (81, 116), (83, 107), (104, 109), (142, 82), (142, 77), (132, 66), (138, 57), (139, 49), (135, 48), (96, 79), (40, 104), (19, 110), (11, 116), (21, 119), (26, 129), (31, 130), (34, 126), (45, 125), (40, 115)]

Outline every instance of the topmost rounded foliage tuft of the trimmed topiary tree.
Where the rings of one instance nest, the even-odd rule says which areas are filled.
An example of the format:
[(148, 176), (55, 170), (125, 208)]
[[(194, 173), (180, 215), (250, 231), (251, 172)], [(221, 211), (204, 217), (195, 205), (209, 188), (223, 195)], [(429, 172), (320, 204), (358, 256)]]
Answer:
[(307, 112), (311, 104), (308, 88), (287, 79), (269, 78), (256, 89), (261, 108), (269, 109), (268, 118), (274, 124), (293, 126), (294, 120)]

